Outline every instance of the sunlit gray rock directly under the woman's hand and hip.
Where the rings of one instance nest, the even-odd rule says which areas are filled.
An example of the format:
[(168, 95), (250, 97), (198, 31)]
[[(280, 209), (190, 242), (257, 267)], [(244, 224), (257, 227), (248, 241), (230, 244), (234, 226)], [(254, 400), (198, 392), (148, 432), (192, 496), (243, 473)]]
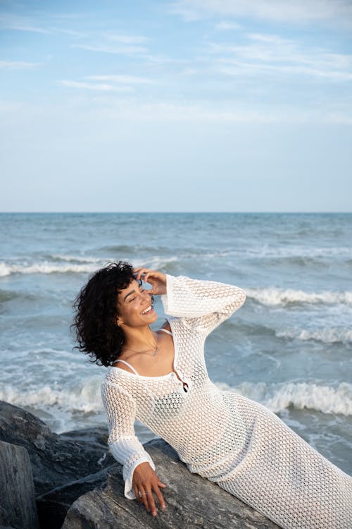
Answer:
[(87, 492), (70, 507), (62, 529), (275, 529), (268, 521), (239, 499), (199, 475), (191, 474), (176, 452), (155, 439), (146, 445), (156, 463), (158, 476), (167, 485), (167, 504), (153, 518), (142, 504), (123, 495), (119, 466), (108, 472), (107, 486)]

